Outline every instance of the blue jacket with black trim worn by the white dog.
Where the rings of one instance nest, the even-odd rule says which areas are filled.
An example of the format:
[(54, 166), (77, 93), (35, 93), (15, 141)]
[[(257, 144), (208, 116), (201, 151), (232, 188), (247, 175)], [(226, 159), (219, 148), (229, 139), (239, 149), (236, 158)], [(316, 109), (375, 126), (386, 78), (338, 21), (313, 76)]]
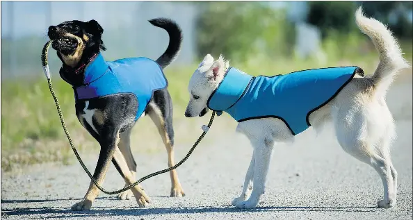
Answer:
[(273, 117), (284, 121), (293, 135), (311, 126), (308, 117), (334, 98), (359, 67), (309, 69), (277, 76), (250, 76), (229, 67), (207, 105), (227, 112), (236, 121)]

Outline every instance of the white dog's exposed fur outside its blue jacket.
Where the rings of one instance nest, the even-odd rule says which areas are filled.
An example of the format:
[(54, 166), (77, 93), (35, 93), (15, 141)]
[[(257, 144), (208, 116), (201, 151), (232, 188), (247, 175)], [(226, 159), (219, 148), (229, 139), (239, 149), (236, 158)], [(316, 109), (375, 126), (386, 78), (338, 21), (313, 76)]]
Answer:
[[(397, 172), (391, 163), (389, 146), (396, 137), (394, 121), (384, 101), (394, 76), (407, 62), (386, 26), (364, 17), (359, 8), (355, 14), (359, 29), (368, 35), (380, 54), (380, 63), (371, 77), (355, 77), (329, 103), (309, 116), (316, 131), (327, 121), (334, 124), (337, 140), (344, 151), (375, 169), (382, 179), (382, 208), (396, 204)], [(229, 62), (222, 56), (215, 62), (206, 55), (189, 82), (191, 94), (186, 115), (195, 117), (206, 108), (206, 101), (222, 81)], [(216, 76), (213, 75), (215, 70)], [(195, 99), (194, 96), (199, 96)], [(266, 176), (275, 142), (292, 142), (294, 136), (280, 119), (253, 119), (238, 124), (237, 132), (245, 134), (254, 153), (245, 175), (241, 196), (232, 204), (238, 208), (254, 208), (264, 193)]]

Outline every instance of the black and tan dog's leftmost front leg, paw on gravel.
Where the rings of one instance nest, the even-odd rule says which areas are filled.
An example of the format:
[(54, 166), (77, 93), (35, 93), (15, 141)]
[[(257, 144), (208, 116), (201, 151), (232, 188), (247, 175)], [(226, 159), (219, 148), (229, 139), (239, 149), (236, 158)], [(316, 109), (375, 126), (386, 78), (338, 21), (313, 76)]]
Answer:
[[(118, 145), (118, 142), (118, 131), (113, 135), (102, 135), (102, 139), (99, 140), (100, 153), (93, 177), (101, 186), (106, 176), (106, 171), (108, 170), (109, 164), (113, 158), (113, 153), (115, 152), (115, 148)], [(72, 210), (90, 210), (90, 207), (92, 207), (92, 203), (93, 201), (95, 201), (95, 198), (98, 194), (99, 189), (95, 186), (95, 184), (92, 181), (90, 181), (88, 192), (86, 192), (86, 195), (83, 197), (82, 201), (72, 206)]]

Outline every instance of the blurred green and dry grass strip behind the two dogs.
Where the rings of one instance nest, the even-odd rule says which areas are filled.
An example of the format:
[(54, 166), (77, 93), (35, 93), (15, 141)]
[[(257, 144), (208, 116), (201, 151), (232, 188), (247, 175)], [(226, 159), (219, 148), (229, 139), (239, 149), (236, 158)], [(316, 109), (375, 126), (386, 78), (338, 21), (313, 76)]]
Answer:
[[(408, 60), (412, 60), (411, 49), (412, 44), (407, 44), (405, 51), (409, 52), (406, 53)], [(218, 56), (218, 54), (213, 54), (213, 56)], [(231, 61), (231, 65), (252, 75), (275, 75), (301, 69), (345, 65), (357, 65), (362, 67), (366, 74), (371, 74), (378, 64), (378, 55), (375, 51), (362, 56), (357, 53), (357, 56), (346, 57), (348, 57), (346, 60), (328, 57), (329, 61), (321, 63), (311, 59), (286, 58), (264, 61), (265, 58), (255, 56), (255, 59), (250, 59), (248, 63), (237, 63), (234, 60)], [(174, 126), (177, 143), (195, 141), (197, 135), (200, 135), (200, 130), (194, 131), (195, 126), (206, 123), (208, 120), (206, 118), (184, 119), (184, 108), (189, 97), (188, 81), (196, 67), (197, 64), (193, 64), (186, 67), (170, 67), (165, 70), (175, 109)], [(97, 149), (99, 149), (97, 142), (81, 126), (74, 115), (72, 87), (58, 77), (57, 69), (51, 69), (51, 71), (54, 72), (52, 78), (54, 90), (76, 148), (81, 153), (90, 151), (97, 153)], [(72, 150), (58, 119), (56, 105), (49, 92), (47, 81), (41, 77), (40, 71), (38, 75), (39, 78), (17, 78), (1, 81), (1, 169), (3, 171), (40, 162), (68, 164), (74, 161)], [(221, 121), (221, 118), (218, 121)], [(228, 124), (227, 121), (219, 124), (220, 126), (235, 126), (235, 123)], [(131, 142), (133, 145), (139, 146), (136, 148), (137, 151), (153, 153), (163, 150), (161, 139), (150, 119), (147, 117), (140, 119), (136, 127), (131, 135)], [(133, 149), (135, 148), (133, 147)]]

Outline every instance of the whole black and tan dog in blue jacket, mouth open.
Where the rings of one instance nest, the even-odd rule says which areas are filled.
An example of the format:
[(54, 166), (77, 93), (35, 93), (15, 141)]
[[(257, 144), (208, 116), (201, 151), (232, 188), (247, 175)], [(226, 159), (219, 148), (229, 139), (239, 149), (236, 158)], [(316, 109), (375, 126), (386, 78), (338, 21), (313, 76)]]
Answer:
[[(135, 61), (142, 61), (145, 65), (148, 63), (152, 65), (151, 62), (156, 62), (156, 66), (152, 65), (151, 67), (152, 69), (159, 68), (160, 70), (157, 72), (160, 72), (163, 76), (162, 69), (174, 60), (181, 48), (181, 29), (170, 19), (159, 18), (152, 19), (149, 22), (168, 32), (170, 37), (168, 48), (156, 61), (147, 58), (145, 59), (149, 61), (145, 59)], [(60, 69), (60, 76), (74, 88), (76, 116), (83, 127), (88, 130), (90, 135), (95, 137), (101, 146), (99, 159), (93, 176), (97, 179), (97, 182), (102, 185), (108, 166), (112, 161), (120, 175), (124, 178), (126, 185), (129, 185), (136, 180), (136, 162), (131, 154), (129, 136), (131, 134), (131, 128), (136, 124), (136, 119), (141, 115), (149, 115), (152, 121), (154, 121), (168, 152), (168, 166), (172, 167), (175, 165), (172, 100), (167, 90), (168, 83), (166, 79), (164, 81), (164, 83), (166, 82), (164, 87), (156, 87), (156, 90), (145, 94), (148, 98), (146, 102), (142, 101), (142, 99), (137, 97), (136, 94), (133, 94), (133, 92), (115, 92), (115, 94), (112, 92), (112, 94), (95, 97), (93, 99), (90, 98), (91, 96), (79, 97), (79, 94), (77, 94), (79, 88), (86, 90), (88, 87), (92, 87), (92, 82), (98, 82), (97, 79), (86, 82), (86, 78), (89, 77), (86, 76), (88, 71), (95, 68), (93, 63), (99, 62), (99, 59), (101, 59), (102, 64), (106, 65), (106, 62), (102, 61), (103, 58), (100, 53), (100, 51), (106, 50), (104, 42), (102, 41), (103, 32), (102, 26), (95, 20), (90, 20), (89, 22), (74, 20), (63, 22), (57, 26), (49, 26), (48, 36), (51, 40), (54, 40), (52, 47), (56, 49), (58, 57), (63, 62), (63, 66)], [(102, 69), (102, 74), (99, 78), (111, 76), (108, 74), (108, 71), (113, 71), (113, 69), (122, 65), (122, 62), (113, 63), (107, 67), (99, 67)], [(96, 68), (99, 69), (98, 67)], [(146, 76), (149, 78), (150, 74), (152, 74), (151, 72), (141, 73), (142, 71), (140, 71), (139, 68), (136, 71), (136, 73), (133, 73), (136, 74), (136, 76), (145, 76), (145, 74), (147, 74)], [(145, 68), (143, 71), (145, 71)], [(130, 83), (133, 81), (127, 80), (127, 82)], [(113, 82), (111, 81), (111, 83)], [(146, 84), (145, 82), (140, 85), (138, 83), (136, 87), (144, 87)], [(113, 85), (108, 85), (108, 88), (104, 88), (104, 90), (112, 89), (111, 86)], [(119, 87), (119, 85), (117, 86)], [(135, 85), (130, 86), (133, 88)], [(94, 88), (92, 92), (99, 92), (100, 89), (102, 89), (102, 87)], [(139, 110), (142, 110), (142, 114), (137, 115)], [(179, 183), (176, 170), (170, 171), (170, 179), (172, 182), (170, 196), (185, 196)], [(91, 182), (83, 200), (74, 204), (72, 210), (90, 209), (92, 202), (98, 194), (99, 189)], [(150, 203), (149, 196), (147, 196), (140, 185), (119, 194), (118, 198), (129, 199), (132, 195), (135, 196), (140, 207), (145, 207), (147, 203)]]

